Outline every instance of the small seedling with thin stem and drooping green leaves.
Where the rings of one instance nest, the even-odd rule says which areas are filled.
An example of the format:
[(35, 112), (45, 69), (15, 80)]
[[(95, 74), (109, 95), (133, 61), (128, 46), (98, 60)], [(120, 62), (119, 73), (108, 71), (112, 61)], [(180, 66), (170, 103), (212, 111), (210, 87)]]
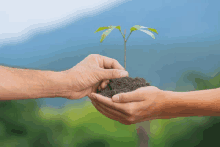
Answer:
[[(103, 40), (108, 36), (108, 34), (111, 33), (111, 31), (112, 31), (113, 29), (115, 29), (115, 28), (118, 29), (118, 30), (121, 32), (121, 27), (120, 27), (120, 26), (111, 26), (111, 25), (110, 25), (110, 26), (108, 26), (108, 27), (107, 27), (107, 26), (105, 26), (105, 27), (99, 27), (99, 28), (95, 31), (95, 33), (107, 29), (104, 33), (102, 33), (102, 36), (101, 36), (101, 39), (100, 39), (100, 43), (102, 43)], [(152, 32), (158, 34), (157, 30), (154, 29), (154, 28), (148, 28), (148, 27), (144, 27), (144, 26), (140, 26), (140, 25), (134, 25), (133, 27), (130, 28), (130, 34), (129, 34), (129, 36), (131, 35), (131, 33), (132, 33), (133, 31), (140, 30), (140, 31), (142, 31), (142, 32), (144, 32), (144, 33), (147, 33), (147, 34), (150, 35), (153, 39), (155, 39), (153, 33), (151, 33), (150, 31), (147, 31), (147, 30), (142, 30), (142, 28), (147, 28), (148, 30), (150, 30), (150, 31), (152, 31)], [(124, 68), (125, 68), (125, 70), (126, 70), (126, 42), (127, 42), (128, 38), (129, 38), (129, 36), (128, 36), (127, 39), (125, 39), (126, 29), (124, 30), (124, 35), (123, 35), (122, 32), (121, 32), (121, 34), (122, 34), (122, 37), (124, 38), (124, 50), (125, 50), (125, 55), (124, 55)]]

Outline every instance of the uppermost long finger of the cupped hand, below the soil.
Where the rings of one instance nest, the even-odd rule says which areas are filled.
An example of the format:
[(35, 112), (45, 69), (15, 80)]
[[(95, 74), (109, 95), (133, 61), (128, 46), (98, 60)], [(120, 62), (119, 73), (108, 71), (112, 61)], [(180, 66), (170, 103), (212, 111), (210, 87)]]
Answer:
[(117, 111), (120, 111), (121, 113), (127, 115), (129, 110), (128, 107), (127, 107), (127, 104), (126, 103), (114, 103), (112, 101), (111, 98), (108, 98), (108, 97), (105, 97), (103, 95), (100, 95), (100, 94), (96, 94), (96, 93), (91, 93), (90, 94), (90, 98), (91, 100), (96, 100), (97, 102), (105, 105), (106, 107), (109, 107), (111, 109), (114, 109), (114, 110), (117, 110)]

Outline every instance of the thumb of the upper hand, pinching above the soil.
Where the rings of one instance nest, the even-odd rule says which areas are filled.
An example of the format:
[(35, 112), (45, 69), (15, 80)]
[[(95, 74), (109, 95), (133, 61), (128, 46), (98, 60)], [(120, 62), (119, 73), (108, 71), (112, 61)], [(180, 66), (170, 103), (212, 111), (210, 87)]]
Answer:
[(129, 74), (125, 70), (119, 69), (103, 69), (102, 79), (117, 79), (122, 77), (128, 77)]

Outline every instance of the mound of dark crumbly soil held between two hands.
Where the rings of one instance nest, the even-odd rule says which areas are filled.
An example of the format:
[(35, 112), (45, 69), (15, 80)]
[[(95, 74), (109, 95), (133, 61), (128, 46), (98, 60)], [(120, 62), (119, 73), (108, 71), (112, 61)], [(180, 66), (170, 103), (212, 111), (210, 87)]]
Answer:
[(118, 93), (130, 92), (146, 86), (151, 85), (143, 78), (123, 77), (118, 79), (110, 79), (107, 87), (105, 89), (101, 89), (100, 91), (97, 89), (97, 93), (112, 98), (113, 95)]

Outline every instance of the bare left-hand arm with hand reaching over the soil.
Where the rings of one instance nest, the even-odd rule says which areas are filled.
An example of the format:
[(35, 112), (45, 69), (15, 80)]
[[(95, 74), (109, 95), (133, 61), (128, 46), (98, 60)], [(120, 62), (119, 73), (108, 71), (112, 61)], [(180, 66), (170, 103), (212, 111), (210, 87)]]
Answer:
[[(124, 71), (125, 75), (120, 73)], [(80, 99), (104, 88), (108, 79), (128, 76), (117, 60), (91, 54), (61, 72), (0, 66), (0, 100), (63, 97)]]

